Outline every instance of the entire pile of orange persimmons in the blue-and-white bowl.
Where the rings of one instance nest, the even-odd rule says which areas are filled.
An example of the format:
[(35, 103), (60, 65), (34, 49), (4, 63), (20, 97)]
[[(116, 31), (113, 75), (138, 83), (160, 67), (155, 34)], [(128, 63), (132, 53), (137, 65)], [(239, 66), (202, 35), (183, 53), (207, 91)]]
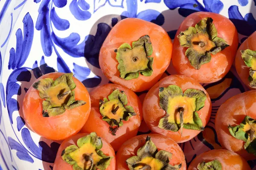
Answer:
[[(218, 109), (215, 129), (223, 149), (198, 155), (188, 170), (250, 170), (247, 160), (256, 159), (256, 32), (239, 49), (238, 41), (235, 26), (220, 14), (189, 15), (173, 43), (162, 27), (126, 18), (99, 54), (113, 83), (89, 94), (73, 73), (45, 74), (24, 98), (26, 125), (64, 140), (54, 170), (186, 170), (177, 143), (203, 131), (212, 110), (200, 83), (222, 79), (236, 58), (236, 71), (251, 90)], [(171, 59), (178, 74), (159, 80)], [(145, 90), (142, 104), (135, 92)], [(142, 119), (151, 133), (137, 136)]]

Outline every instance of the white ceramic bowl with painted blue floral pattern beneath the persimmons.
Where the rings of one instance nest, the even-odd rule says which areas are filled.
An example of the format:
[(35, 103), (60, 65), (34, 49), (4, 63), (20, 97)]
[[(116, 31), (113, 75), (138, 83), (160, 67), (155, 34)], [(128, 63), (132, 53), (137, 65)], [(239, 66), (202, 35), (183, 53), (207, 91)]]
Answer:
[[(47, 143), (44, 139), (40, 139), (39, 142), (35, 140), (35, 134), (26, 127), (23, 119), (23, 96), (35, 79), (57, 71), (64, 73), (72, 71), (74, 76), (88, 89), (107, 83), (108, 80), (106, 81), (100, 71), (99, 51), (111, 28), (120, 19), (139, 18), (166, 28), (166, 24), (172, 23), (172, 17), (175, 17), (170, 17), (170, 13), (186, 17), (197, 11), (220, 13), (222, 10), (228, 9), (225, 11), (228, 14), (226, 17), (230, 18), (239, 34), (243, 35), (240, 39), (241, 43), (256, 31), (255, 16), (250, 12), (256, 9), (256, 0), (237, 0), (236, 3), (230, 4), (224, 0), (202, 0), (202, 3), (198, 0), (34, 0), (32, 2), (17, 0), (15, 6), (10, 6), (11, 0), (2, 0), (0, 3), (3, 1), (5, 2), (0, 11), (0, 24), (3, 24), (1, 21), (5, 12), (10, 9), (11, 12), (9, 13), (10, 25), (8, 28), (6, 27), (8, 31), (0, 46), (0, 162), (1, 160), (3, 162), (0, 169), (18, 169), (20, 162), (16, 163), (17, 159), (13, 159), (13, 157), (17, 157), (25, 164), (32, 165), (34, 169), (43, 169), (38, 161), (47, 162), (45, 166), (52, 169), (52, 163), (55, 161), (60, 144), (54, 141)], [(22, 11), (21, 8), (32, 3), (37, 6), (38, 12), (31, 12), (35, 9), (26, 8), (28, 11), (20, 13), (22, 25), (17, 27), (15, 21), (19, 9)], [(248, 9), (246, 13), (242, 12), (243, 8), (249, 8), (250, 3), (252, 3), (251, 9)], [(156, 6), (156, 8), (151, 8), (151, 6)], [(228, 8), (224, 8), (224, 6)], [(162, 8), (168, 10), (163, 11)], [(95, 18), (104, 15), (105, 10), (111, 10), (113, 14), (117, 15), (110, 15), (104, 20), (99, 18), (96, 21)], [(74, 26), (79, 26), (74, 23), (79, 22), (85, 23), (84, 30), (87, 31), (74, 29)], [(90, 32), (87, 27), (92, 27)], [(177, 26), (170, 26), (167, 31), (170, 38), (174, 39)], [(2, 40), (1, 37), (0, 40)], [(16, 43), (9, 45), (9, 40)], [(40, 42), (38, 43), (37, 40)], [(5, 63), (8, 63), (7, 69), (2, 65), (4, 58), (6, 59)], [(82, 60), (84, 62), (80, 63)], [(6, 75), (3, 74), (2, 69)], [(169, 75), (167, 71), (166, 75)], [(218, 96), (211, 97), (212, 115), (205, 127), (206, 130), (212, 132), (214, 144), (206, 139), (204, 132), (191, 141), (180, 144), (186, 155), (187, 165), (197, 156), (196, 151), (201, 150), (201, 148), (198, 149), (198, 147), (202, 147), (201, 144), (203, 144), (204, 150), (220, 147), (214, 120), (221, 105), (221, 99), (231, 95), (230, 91), (236, 90), (235, 93), (241, 93), (247, 90), (232, 71), (221, 81), (204, 85), (204, 88), (208, 91), (212, 87), (226, 85), (226, 82), (230, 83), (229, 86)], [(138, 96), (145, 93), (147, 91), (138, 93)], [(9, 122), (4, 122), (5, 126), (1, 122), (3, 117), (9, 119)], [(9, 133), (6, 134), (7, 130)], [(150, 133), (150, 131), (138, 134), (145, 133)], [(186, 150), (189, 150), (189, 153)], [(252, 169), (254, 168), (253, 170), (256, 170), (256, 161), (248, 161), (248, 163)]]

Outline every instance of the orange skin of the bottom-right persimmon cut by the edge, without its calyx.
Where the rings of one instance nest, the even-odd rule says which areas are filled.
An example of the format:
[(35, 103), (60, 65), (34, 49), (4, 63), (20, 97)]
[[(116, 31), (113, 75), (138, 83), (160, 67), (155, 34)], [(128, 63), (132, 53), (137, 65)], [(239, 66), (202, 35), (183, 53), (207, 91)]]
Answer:
[(250, 166), (245, 159), (237, 153), (230, 150), (216, 149), (201, 153), (191, 162), (188, 170), (197, 170), (197, 166), (202, 161), (212, 161), (217, 159), (220, 161), (222, 170), (250, 170)]

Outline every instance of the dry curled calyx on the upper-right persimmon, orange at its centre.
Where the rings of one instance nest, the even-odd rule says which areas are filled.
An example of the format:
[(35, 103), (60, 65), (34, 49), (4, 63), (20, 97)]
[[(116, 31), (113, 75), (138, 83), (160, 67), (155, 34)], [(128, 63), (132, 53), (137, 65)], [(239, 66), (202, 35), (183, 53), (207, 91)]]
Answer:
[(223, 38), (217, 37), (218, 32), (212, 21), (210, 17), (203, 18), (195, 27), (190, 26), (177, 36), (180, 45), (188, 47), (186, 57), (197, 70), (211, 61), (211, 54), (215, 55), (229, 46)]

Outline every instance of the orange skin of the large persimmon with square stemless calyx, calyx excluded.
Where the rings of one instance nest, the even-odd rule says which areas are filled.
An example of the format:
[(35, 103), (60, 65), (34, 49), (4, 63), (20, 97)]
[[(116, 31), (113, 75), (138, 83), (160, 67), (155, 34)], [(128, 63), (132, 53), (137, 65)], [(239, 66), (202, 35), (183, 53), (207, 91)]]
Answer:
[[(153, 45), (153, 74), (140, 75), (137, 79), (125, 80), (119, 77), (115, 49), (127, 42), (137, 41), (143, 35), (149, 35)], [(125, 86), (135, 92), (151, 88), (169, 66), (172, 56), (172, 40), (160, 26), (138, 18), (126, 18), (118, 22), (108, 34), (99, 52), (99, 65), (111, 82)]]

